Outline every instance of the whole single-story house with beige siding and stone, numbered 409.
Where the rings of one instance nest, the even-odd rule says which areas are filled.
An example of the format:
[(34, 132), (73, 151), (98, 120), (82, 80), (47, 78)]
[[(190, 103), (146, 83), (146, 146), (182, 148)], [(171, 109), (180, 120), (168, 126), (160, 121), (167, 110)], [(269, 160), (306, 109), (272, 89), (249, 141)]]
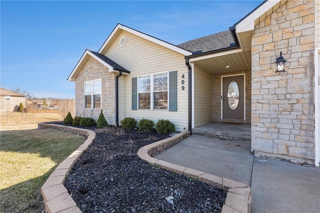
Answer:
[[(255, 155), (318, 166), (319, 4), (263, 1), (228, 31), (179, 45), (117, 24), (68, 77), (76, 116), (96, 119), (103, 109), (112, 125), (164, 118), (177, 131), (249, 123)], [(275, 72), (280, 54), (285, 71)]]

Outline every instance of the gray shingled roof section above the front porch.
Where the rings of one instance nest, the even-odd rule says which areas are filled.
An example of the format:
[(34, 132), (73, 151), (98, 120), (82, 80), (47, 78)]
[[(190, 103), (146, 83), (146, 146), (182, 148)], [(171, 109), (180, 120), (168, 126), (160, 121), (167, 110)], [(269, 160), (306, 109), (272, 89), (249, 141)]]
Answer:
[(215, 34), (199, 37), (193, 40), (180, 43), (177, 46), (187, 49), (192, 52), (201, 50), (207, 52), (211, 50), (221, 49), (229, 47), (231, 43), (234, 43), (230, 30), (218, 32)]

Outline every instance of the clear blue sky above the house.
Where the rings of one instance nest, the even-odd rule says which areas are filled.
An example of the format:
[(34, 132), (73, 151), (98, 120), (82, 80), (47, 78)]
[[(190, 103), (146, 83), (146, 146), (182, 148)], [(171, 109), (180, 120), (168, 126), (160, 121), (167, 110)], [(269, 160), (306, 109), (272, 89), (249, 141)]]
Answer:
[(66, 78), (117, 23), (172, 44), (227, 30), (262, 0), (0, 1), (0, 86), (72, 98)]

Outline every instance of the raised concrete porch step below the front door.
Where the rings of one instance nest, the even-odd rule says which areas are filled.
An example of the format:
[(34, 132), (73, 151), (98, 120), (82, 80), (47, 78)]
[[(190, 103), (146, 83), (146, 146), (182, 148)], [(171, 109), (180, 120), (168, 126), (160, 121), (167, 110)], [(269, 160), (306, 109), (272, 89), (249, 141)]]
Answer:
[(192, 133), (251, 140), (251, 124), (211, 122), (192, 128)]

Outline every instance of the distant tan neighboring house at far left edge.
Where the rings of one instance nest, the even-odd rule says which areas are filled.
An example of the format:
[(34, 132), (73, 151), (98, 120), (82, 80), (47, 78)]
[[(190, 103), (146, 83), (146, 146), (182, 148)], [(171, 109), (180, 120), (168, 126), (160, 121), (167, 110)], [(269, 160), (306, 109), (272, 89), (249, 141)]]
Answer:
[(20, 103), (25, 105), (25, 95), (0, 88), (0, 112), (18, 111)]

